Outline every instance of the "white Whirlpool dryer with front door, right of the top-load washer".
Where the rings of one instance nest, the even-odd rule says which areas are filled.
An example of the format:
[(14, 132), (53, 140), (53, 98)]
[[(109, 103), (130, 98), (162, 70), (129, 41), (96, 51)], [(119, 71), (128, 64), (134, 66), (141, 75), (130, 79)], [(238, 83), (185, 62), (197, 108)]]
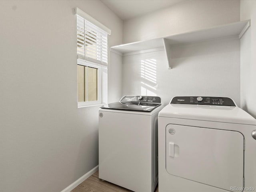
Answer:
[(159, 192), (256, 191), (256, 120), (230, 98), (174, 97), (158, 116)]

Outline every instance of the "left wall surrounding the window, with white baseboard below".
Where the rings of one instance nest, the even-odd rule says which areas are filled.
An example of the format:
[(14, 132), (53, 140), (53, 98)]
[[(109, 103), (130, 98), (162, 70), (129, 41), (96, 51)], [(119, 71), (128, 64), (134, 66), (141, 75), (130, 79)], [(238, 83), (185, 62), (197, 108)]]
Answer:
[(60, 192), (98, 164), (98, 107), (77, 108), (75, 7), (122, 43), (98, 0), (0, 1), (1, 192)]

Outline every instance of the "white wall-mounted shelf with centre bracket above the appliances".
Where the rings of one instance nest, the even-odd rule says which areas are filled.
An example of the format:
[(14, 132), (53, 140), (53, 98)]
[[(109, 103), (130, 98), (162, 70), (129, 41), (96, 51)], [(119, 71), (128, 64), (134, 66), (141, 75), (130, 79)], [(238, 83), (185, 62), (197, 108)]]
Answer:
[(237, 36), (241, 38), (246, 30), (250, 27), (250, 20), (234, 22), (226, 25), (215, 26), (202, 30), (196, 30), (186, 33), (174, 34), (162, 38), (155, 38), (146, 41), (132, 42), (118, 46), (112, 46), (111, 51), (120, 52), (122, 55), (127, 55), (131, 52), (140, 52), (143, 50), (152, 50), (163, 48), (166, 52), (168, 60), (168, 68), (171, 68), (171, 46), (179, 44), (187, 44), (192, 42), (200, 42), (218, 38), (226, 38)]

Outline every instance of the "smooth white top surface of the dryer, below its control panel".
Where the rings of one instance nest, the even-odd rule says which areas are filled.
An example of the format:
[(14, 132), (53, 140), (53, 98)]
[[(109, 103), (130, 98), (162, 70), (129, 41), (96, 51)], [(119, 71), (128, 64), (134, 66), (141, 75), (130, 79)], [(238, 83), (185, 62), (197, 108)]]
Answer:
[(256, 125), (256, 120), (237, 106), (168, 104), (158, 116)]

